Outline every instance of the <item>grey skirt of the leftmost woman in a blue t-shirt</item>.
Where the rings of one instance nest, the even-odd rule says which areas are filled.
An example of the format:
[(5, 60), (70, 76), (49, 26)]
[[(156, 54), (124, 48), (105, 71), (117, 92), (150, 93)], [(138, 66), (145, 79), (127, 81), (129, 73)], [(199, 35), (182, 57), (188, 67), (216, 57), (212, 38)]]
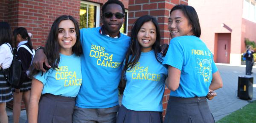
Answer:
[(75, 99), (52, 94), (41, 95), (38, 123), (72, 123)]

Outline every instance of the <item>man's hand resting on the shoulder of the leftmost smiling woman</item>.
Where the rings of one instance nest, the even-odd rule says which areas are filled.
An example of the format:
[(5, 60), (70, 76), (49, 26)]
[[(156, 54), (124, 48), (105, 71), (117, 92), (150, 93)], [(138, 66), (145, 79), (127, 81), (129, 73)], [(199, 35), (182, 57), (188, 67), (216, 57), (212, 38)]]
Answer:
[(44, 69), (44, 64), (46, 67), (51, 67), (48, 63), (46, 55), (44, 54), (43, 48), (36, 50), (32, 63), (36, 70), (41, 70), (42, 72), (46, 72)]

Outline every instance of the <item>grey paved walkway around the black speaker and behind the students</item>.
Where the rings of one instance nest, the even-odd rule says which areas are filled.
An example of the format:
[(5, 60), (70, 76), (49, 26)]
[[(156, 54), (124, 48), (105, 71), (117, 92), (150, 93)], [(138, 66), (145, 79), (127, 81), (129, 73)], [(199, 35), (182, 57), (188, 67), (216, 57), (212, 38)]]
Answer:
[[(230, 66), (229, 64), (217, 64), (217, 67), (221, 73), (223, 80), (223, 88), (216, 90), (218, 96), (216, 96), (212, 101), (208, 101), (212, 115), (215, 121), (229, 115), (230, 113), (242, 108), (251, 101), (241, 100), (237, 97), (237, 86), (238, 86), (238, 76), (244, 75), (245, 66)], [(253, 87), (253, 100), (256, 100), (256, 67), (253, 68), (254, 74), (254, 87)], [(9, 123), (12, 121), (12, 110), (7, 109), (7, 114), (9, 116)], [(26, 121), (26, 111), (21, 111), (20, 123), (25, 123)]]

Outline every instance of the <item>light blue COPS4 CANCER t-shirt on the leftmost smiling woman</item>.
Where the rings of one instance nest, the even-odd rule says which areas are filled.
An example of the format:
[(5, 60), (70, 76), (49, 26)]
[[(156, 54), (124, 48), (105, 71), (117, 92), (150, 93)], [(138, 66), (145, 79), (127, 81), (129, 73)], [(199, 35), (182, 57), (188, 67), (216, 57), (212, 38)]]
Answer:
[[(60, 53), (58, 69), (39, 72), (34, 77), (44, 84), (42, 95), (49, 93), (64, 97), (76, 97), (82, 84), (81, 57), (75, 54), (66, 56)], [(42, 75), (42, 76), (41, 76)]]

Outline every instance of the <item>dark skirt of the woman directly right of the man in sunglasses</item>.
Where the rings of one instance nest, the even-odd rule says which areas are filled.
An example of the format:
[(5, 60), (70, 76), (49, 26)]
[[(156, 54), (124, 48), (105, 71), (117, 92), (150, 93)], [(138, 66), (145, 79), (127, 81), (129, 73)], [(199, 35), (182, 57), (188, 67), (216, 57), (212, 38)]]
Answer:
[(121, 106), (116, 123), (163, 123), (162, 112), (134, 111)]

